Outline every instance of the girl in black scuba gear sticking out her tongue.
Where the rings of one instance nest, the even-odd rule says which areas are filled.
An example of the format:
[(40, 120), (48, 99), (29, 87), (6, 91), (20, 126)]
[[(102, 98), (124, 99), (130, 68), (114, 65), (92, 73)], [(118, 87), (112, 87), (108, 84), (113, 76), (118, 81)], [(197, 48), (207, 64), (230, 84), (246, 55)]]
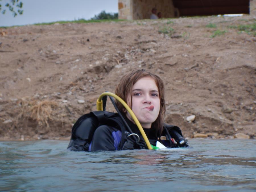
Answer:
[[(134, 70), (121, 78), (115, 94), (134, 112), (152, 146), (157, 142), (169, 148), (188, 146), (179, 127), (164, 123), (164, 82), (158, 75), (145, 69)], [(121, 114), (97, 111), (80, 117), (72, 128), (68, 149), (147, 149), (131, 115), (119, 101), (116, 104)]]

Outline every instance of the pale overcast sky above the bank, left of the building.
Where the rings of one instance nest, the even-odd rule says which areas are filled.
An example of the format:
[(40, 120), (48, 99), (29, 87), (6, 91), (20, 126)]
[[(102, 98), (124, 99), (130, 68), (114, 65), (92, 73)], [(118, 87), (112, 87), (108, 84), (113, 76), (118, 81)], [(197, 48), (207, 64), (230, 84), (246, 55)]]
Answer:
[[(10, 11), (0, 14), (0, 26), (25, 25), (52, 21), (90, 19), (101, 11), (118, 12), (118, 0), (20, 0), (23, 14), (13, 17)], [(4, 5), (10, 2), (2, 0)]]

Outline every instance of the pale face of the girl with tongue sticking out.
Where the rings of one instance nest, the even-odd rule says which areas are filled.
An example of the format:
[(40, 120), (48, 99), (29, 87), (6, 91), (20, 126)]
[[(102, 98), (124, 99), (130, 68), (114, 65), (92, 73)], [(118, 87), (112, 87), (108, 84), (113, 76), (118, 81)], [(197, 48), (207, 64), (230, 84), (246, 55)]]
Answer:
[[(139, 79), (132, 88), (132, 106), (130, 97), (127, 98), (127, 104), (133, 110), (141, 126), (151, 128), (151, 124), (157, 119), (160, 111), (160, 98), (155, 80), (151, 77)], [(126, 116), (133, 121), (128, 112)]]

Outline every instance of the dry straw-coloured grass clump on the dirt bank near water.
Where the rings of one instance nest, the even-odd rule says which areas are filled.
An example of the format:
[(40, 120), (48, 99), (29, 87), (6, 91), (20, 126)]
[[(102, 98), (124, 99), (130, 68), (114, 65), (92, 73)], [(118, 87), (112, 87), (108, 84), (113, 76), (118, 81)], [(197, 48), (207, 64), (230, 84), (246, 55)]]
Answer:
[(29, 117), (36, 120), (38, 125), (43, 129), (49, 129), (49, 120), (53, 119), (53, 110), (58, 107), (58, 104), (54, 101), (43, 100), (36, 101), (22, 101), (22, 112), (18, 115), (18, 119), (21, 117)]

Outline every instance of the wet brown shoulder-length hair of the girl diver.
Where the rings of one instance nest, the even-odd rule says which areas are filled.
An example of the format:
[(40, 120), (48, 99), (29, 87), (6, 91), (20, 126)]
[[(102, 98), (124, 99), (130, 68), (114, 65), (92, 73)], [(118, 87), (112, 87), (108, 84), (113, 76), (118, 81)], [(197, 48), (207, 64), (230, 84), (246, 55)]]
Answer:
[[(165, 108), (165, 101), (164, 101), (164, 82), (158, 75), (155, 75), (154, 73), (146, 69), (133, 70), (121, 78), (119, 84), (115, 89), (115, 94), (121, 97), (126, 103), (127, 103), (127, 98), (130, 97), (131, 106), (132, 106), (133, 85), (143, 77), (151, 77), (152, 79), (155, 80), (156, 86), (158, 87), (159, 98), (160, 98), (160, 111), (156, 121), (152, 123), (151, 128), (152, 128), (152, 131), (154, 131), (154, 133), (159, 137), (163, 131), (164, 114), (165, 114), (166, 108)], [(119, 101), (116, 101), (116, 103), (120, 112), (122, 112), (123, 115), (125, 116), (126, 109), (124, 108), (124, 106)]]

